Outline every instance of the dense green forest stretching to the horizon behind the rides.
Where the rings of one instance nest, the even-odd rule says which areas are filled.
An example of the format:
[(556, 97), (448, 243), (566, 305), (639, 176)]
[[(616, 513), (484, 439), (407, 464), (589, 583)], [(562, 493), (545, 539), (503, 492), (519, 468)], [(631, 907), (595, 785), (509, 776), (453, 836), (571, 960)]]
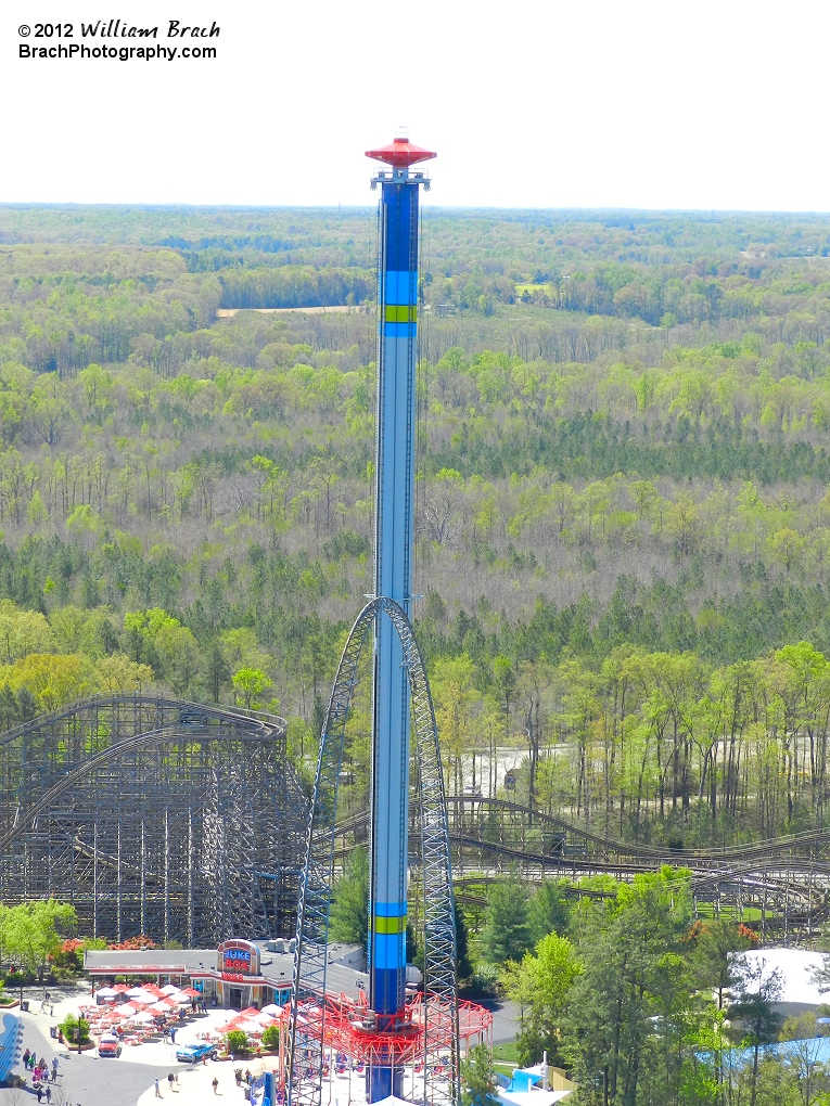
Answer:
[[(375, 236), (0, 208), (3, 726), (156, 686), (284, 713), (313, 759), (371, 588)], [(421, 295), (450, 786), (498, 755), (612, 835), (824, 824), (830, 219), (432, 208)]]

